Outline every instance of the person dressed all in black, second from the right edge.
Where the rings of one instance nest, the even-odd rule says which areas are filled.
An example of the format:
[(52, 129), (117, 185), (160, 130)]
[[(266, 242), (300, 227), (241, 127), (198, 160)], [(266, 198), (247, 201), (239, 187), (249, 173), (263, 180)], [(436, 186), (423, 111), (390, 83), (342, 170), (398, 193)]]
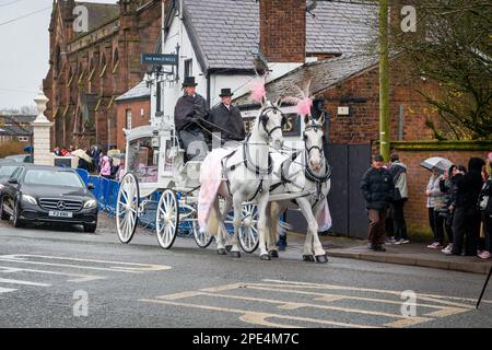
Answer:
[(480, 235), (480, 210), (478, 200), (482, 189), (482, 166), (485, 162), (480, 158), (471, 158), (468, 173), (456, 177), (454, 187), (453, 255), (461, 255), (465, 243), (465, 255), (476, 256)]

